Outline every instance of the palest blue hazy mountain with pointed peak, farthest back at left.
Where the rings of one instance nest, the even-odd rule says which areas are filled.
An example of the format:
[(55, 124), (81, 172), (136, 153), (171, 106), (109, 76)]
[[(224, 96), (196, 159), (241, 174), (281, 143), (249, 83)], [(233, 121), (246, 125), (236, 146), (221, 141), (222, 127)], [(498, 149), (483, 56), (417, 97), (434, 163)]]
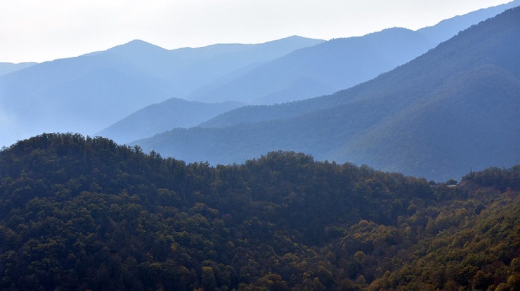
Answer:
[[(258, 45), (166, 50), (134, 40), (37, 64), (0, 77), (0, 108), (9, 113), (9, 124), (20, 124), (10, 134), (0, 130), (0, 143), (43, 131), (92, 134), (147, 105), (321, 41), (293, 36)], [(6, 119), (0, 116), (0, 128)]]

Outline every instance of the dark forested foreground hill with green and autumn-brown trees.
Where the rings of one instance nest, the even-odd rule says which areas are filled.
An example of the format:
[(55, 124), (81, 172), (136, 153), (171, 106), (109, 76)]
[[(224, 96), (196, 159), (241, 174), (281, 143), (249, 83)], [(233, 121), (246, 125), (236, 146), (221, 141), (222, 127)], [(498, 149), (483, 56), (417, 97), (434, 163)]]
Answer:
[(447, 184), (43, 134), (0, 151), (0, 288), (518, 290), (520, 166)]

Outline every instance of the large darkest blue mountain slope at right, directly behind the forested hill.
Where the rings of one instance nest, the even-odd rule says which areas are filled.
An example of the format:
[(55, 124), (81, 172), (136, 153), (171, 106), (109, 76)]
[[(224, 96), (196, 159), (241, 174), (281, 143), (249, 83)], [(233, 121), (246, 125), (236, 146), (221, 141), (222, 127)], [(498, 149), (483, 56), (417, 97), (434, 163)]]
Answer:
[(333, 95), (248, 106), (137, 141), (187, 161), (243, 162), (271, 150), (370, 164), (436, 181), (520, 162), (520, 8)]

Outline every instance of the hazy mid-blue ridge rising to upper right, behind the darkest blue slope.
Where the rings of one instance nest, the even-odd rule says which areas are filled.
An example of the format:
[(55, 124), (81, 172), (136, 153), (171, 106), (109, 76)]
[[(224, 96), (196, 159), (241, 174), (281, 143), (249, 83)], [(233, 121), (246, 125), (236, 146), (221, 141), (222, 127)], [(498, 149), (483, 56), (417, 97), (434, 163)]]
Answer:
[[(362, 37), (332, 39), (294, 51), (220, 87), (204, 88), (190, 98), (275, 104), (331, 94), (411, 61), (459, 31), (519, 4), (517, 0), (481, 9), (418, 31), (395, 28)], [(302, 84), (311, 90), (302, 88)]]

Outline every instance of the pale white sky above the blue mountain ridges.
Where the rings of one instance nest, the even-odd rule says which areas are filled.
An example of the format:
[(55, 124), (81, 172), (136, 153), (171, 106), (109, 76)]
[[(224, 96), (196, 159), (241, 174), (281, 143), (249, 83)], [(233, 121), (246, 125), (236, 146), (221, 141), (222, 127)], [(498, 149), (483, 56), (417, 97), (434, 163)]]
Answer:
[(419, 29), (510, 0), (0, 0), (0, 62), (42, 62), (142, 39), (167, 49)]

